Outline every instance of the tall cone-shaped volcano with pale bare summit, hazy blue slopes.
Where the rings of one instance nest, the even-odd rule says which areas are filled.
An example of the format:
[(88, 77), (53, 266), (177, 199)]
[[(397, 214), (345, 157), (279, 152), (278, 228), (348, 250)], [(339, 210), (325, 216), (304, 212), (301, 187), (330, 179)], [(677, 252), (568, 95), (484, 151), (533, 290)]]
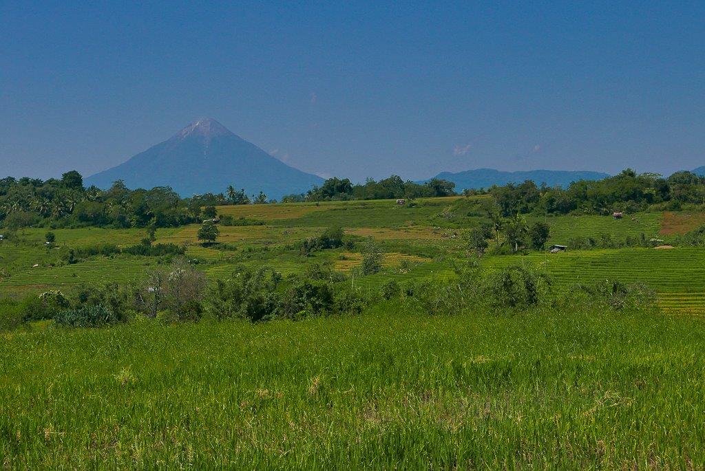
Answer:
[(276, 199), (324, 181), (286, 165), (212, 118), (197, 120), (128, 161), (85, 178), (85, 184), (106, 189), (116, 180), (130, 189), (168, 186), (180, 196), (220, 193), (233, 185)]

